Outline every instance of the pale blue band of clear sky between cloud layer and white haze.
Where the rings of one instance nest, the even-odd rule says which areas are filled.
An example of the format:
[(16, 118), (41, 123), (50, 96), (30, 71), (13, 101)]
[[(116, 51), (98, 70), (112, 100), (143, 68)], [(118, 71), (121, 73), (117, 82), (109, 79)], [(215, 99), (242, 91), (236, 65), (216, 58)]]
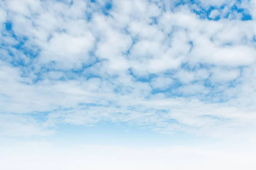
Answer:
[[(8, 138), (16, 140), (17, 138)], [(194, 136), (186, 133), (162, 134), (148, 128), (123, 123), (97, 123), (92, 127), (81, 125), (58, 125), (53, 136), (19, 137), (21, 142), (50, 142), (53, 146), (67, 145), (116, 145), (127, 147), (164, 147), (216, 143), (219, 139)], [(3, 140), (4, 142), (5, 140)]]

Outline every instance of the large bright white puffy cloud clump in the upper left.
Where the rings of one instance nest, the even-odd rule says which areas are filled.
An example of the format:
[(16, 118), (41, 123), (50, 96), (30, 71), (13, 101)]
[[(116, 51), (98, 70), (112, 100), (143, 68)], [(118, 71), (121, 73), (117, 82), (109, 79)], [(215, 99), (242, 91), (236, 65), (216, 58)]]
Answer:
[(81, 65), (87, 61), (88, 51), (93, 47), (93, 43), (94, 37), (91, 33), (84, 33), (79, 37), (67, 34), (53, 35), (49, 45), (44, 47), (40, 60), (43, 63), (56, 61), (64, 68), (73, 68), (74, 65)]

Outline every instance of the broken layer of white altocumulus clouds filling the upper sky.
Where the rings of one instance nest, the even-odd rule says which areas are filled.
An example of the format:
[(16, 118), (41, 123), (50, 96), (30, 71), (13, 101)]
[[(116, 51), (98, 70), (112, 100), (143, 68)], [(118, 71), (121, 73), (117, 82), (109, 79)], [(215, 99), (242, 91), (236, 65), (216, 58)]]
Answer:
[(1, 0), (0, 135), (253, 131), (255, 17), (255, 0)]

